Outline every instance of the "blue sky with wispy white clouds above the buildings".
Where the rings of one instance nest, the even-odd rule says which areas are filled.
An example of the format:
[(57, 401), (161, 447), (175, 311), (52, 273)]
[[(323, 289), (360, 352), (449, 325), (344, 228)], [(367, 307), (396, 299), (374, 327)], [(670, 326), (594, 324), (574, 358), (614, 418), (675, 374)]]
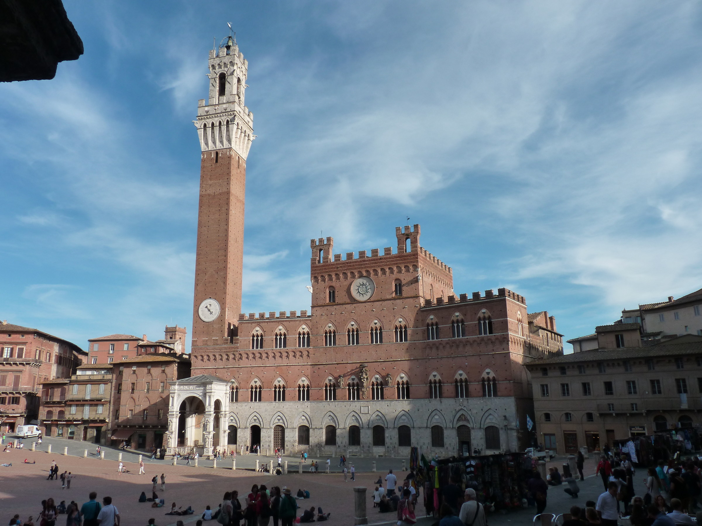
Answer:
[[(86, 347), (192, 323), (206, 58), (249, 60), (244, 311), (310, 238), (507, 287), (567, 338), (702, 281), (702, 4), (65, 0), (86, 52), (0, 85), (0, 318)], [(702, 327), (700, 327), (702, 328)], [(567, 345), (567, 350), (571, 349)]]

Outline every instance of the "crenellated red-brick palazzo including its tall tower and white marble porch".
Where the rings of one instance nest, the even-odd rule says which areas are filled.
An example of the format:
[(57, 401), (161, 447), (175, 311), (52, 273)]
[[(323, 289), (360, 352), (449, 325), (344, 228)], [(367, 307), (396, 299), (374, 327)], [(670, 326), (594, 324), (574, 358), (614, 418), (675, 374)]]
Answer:
[[(397, 228), (397, 248), (311, 242), (310, 311), (241, 314), (248, 62), (210, 52), (201, 145), (192, 377), (171, 382), (168, 452), (260, 445), (316, 454), (521, 450), (529, 360), (562, 353), (548, 313), (505, 288), (456, 295), (453, 271)], [(207, 102), (207, 103), (206, 103)]]

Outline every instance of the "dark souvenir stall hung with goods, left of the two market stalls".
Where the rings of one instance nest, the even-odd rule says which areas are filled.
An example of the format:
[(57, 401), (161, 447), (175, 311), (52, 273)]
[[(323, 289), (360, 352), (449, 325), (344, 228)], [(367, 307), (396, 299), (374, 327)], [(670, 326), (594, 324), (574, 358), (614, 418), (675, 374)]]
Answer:
[(437, 510), (442, 488), (451, 476), (461, 480), (461, 490), (472, 487), (477, 499), (488, 510), (516, 509), (527, 506), (527, 473), (524, 464), (531, 459), (524, 453), (451, 457), (427, 461), (422, 455), (418, 476), (423, 481), (427, 511)]

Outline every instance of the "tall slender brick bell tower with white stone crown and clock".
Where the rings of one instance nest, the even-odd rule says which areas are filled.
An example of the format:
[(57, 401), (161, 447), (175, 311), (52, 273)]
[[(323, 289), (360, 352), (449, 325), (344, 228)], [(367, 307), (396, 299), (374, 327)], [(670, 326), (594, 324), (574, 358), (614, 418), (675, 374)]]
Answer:
[(194, 121), (202, 154), (192, 346), (229, 343), (241, 311), (246, 156), (256, 137), (244, 106), (248, 67), (232, 36), (211, 50), (209, 98)]

